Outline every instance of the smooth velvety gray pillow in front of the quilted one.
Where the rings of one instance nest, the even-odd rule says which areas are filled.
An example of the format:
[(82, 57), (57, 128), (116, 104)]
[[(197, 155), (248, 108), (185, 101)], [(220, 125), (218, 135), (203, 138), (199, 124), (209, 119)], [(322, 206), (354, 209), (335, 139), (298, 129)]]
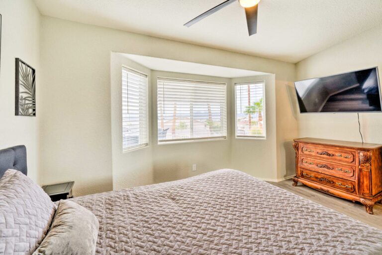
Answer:
[(52, 226), (33, 255), (94, 255), (98, 220), (88, 209), (61, 200)]

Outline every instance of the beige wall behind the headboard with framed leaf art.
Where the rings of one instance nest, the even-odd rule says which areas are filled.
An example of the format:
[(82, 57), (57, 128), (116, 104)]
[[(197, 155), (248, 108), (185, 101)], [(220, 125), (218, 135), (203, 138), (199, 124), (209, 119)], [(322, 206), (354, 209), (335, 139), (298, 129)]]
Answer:
[[(39, 183), (40, 13), (30, 0), (1, 0), (0, 14), (0, 148), (25, 144), (28, 176)], [(36, 69), (37, 117), (14, 116), (15, 58), (21, 58)]]

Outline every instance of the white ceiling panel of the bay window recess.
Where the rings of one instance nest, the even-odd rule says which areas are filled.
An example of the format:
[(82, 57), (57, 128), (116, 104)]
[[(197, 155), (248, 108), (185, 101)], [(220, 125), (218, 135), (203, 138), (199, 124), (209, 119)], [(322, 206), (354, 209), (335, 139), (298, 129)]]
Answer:
[(188, 73), (197, 75), (216, 76), (224, 78), (239, 78), (250, 77), (257, 75), (267, 75), (269, 73), (256, 72), (251, 70), (243, 70), (222, 66), (212, 66), (191, 62), (184, 62), (178, 60), (147, 57), (133, 54), (123, 54), (128, 59), (131, 59), (138, 64), (141, 64), (151, 70), (175, 72), (175, 73)]

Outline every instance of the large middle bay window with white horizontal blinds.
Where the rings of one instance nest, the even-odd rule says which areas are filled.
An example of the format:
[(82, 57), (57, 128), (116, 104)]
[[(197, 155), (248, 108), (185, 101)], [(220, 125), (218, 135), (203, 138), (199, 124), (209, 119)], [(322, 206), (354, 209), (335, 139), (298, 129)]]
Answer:
[(159, 142), (226, 137), (226, 84), (158, 78)]

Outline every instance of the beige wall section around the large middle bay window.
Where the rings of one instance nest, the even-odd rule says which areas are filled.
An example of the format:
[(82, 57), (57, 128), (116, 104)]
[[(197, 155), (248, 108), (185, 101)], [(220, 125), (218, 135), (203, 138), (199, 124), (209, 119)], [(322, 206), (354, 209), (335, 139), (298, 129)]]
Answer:
[[(231, 159), (231, 137), (229, 135), (227, 139), (222, 140), (158, 144), (156, 140), (158, 132), (158, 114), (156, 106), (158, 77), (220, 82), (226, 83), (228, 88), (231, 86), (231, 79), (161, 71), (152, 71), (151, 77), (153, 95), (151, 100), (151, 111), (153, 113), (151, 128), (153, 131), (152, 148), (154, 156), (154, 181), (156, 183), (173, 181), (212, 170), (229, 168)], [(232, 95), (229, 93), (229, 90), (227, 90), (227, 112), (232, 106), (231, 99)], [(230, 115), (228, 115), (227, 118), (229, 123)], [(229, 134), (229, 129), (227, 133)], [(196, 171), (191, 170), (192, 164), (196, 164)]]

